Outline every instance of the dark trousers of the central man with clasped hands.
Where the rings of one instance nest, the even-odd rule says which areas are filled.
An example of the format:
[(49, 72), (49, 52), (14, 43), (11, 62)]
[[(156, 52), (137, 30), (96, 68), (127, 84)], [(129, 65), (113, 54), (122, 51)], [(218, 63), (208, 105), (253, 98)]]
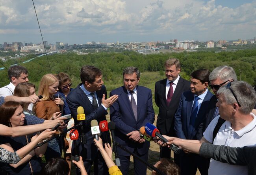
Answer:
[[(148, 161), (148, 152), (143, 155), (139, 155), (137, 150), (134, 150), (134, 153), (139, 156), (141, 159)], [(122, 156), (118, 155), (120, 159), (121, 166), (119, 169), (121, 170), (123, 175), (127, 175), (129, 171), (129, 164), (130, 164), (130, 156)], [(146, 175), (147, 174), (147, 165), (143, 162), (139, 161), (134, 157), (134, 175)]]

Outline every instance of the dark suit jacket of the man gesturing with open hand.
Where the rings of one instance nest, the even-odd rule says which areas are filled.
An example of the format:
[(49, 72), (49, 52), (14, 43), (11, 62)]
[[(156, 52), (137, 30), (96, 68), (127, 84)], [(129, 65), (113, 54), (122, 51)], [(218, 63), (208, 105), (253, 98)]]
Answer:
[[(105, 94), (107, 97), (106, 87), (102, 86), (100, 91), (96, 91), (98, 97), (99, 107), (97, 109), (93, 108), (89, 98), (84, 93), (84, 91), (80, 88), (82, 84), (79, 84), (75, 89), (70, 91), (69, 95), (66, 98), (67, 104), (69, 105), (69, 109), (71, 111), (71, 115), (74, 118), (75, 125), (78, 124), (80, 121), (77, 120), (77, 108), (82, 106), (85, 113), (85, 125), (83, 126), (83, 133), (86, 137), (86, 143), (81, 144), (80, 138), (76, 141), (76, 145), (78, 151), (80, 151), (80, 155), (83, 157), (83, 160), (95, 160), (97, 157), (98, 149), (94, 145), (93, 139), (94, 136), (91, 134), (91, 120), (95, 119), (98, 122), (102, 120), (106, 120), (106, 116), (108, 112), (104, 109), (101, 105), (102, 95)], [(82, 135), (82, 130), (78, 127), (79, 135)], [(110, 143), (110, 135), (109, 132), (102, 133), (102, 140)], [(74, 144), (72, 145), (72, 150), (74, 150)], [(72, 151), (74, 153), (74, 151)]]

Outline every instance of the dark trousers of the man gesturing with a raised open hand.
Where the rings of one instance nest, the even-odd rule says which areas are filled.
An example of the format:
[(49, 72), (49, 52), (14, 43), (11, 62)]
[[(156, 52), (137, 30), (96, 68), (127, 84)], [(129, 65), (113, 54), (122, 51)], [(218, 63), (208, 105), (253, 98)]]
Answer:
[[(100, 151), (98, 151), (98, 156), (95, 160), (83, 160), (83, 165), (85, 167), (85, 170), (87, 171), (87, 174), (90, 175), (91, 166), (94, 165), (94, 174), (95, 175), (107, 175), (108, 173), (108, 167), (100, 154)], [(80, 171), (76, 171), (76, 175), (80, 175)]]

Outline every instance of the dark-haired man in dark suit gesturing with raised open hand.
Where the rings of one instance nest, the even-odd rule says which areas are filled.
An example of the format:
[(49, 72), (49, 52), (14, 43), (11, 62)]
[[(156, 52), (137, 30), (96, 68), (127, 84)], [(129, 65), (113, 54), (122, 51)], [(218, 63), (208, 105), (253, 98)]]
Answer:
[[(72, 154), (74, 152), (74, 142), (77, 149), (83, 157), (83, 163), (87, 173), (90, 173), (92, 164), (94, 164), (94, 172), (97, 175), (108, 174), (108, 168), (101, 154), (94, 145), (94, 136), (91, 134), (91, 120), (95, 119), (98, 122), (106, 120), (108, 114), (107, 109), (111, 106), (118, 96), (113, 95), (106, 99), (107, 90), (103, 85), (102, 72), (94, 66), (83, 66), (80, 72), (82, 83), (73, 89), (66, 100), (69, 105), (71, 115), (74, 117), (75, 125), (79, 123), (77, 120), (77, 108), (82, 106), (85, 112), (85, 124), (78, 129), (79, 135), (85, 134), (85, 142), (81, 143), (81, 138), (73, 140)], [(107, 132), (102, 134), (102, 140), (110, 142), (110, 135)]]

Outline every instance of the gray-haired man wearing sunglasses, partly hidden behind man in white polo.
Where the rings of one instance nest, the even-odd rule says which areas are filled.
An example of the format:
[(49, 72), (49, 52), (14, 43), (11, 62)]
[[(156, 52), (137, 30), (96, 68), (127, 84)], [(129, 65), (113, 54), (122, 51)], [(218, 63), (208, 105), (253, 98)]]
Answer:
[[(203, 132), (210, 124), (211, 120), (219, 115), (219, 109), (216, 106), (217, 103), (217, 91), (221, 86), (225, 86), (230, 81), (236, 81), (236, 72), (230, 66), (219, 66), (213, 69), (209, 75), (210, 84), (209, 87), (212, 89), (213, 97), (211, 97), (208, 109), (206, 110), (205, 122), (203, 127)], [(224, 120), (223, 120), (224, 121)]]

